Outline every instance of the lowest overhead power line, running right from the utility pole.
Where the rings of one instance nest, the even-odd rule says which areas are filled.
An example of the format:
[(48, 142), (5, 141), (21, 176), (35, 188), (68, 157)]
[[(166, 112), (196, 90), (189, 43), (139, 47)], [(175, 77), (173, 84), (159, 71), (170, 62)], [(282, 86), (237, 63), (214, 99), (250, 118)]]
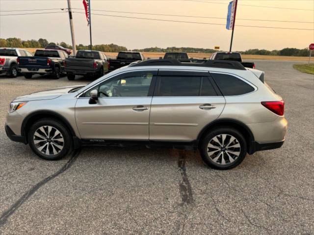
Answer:
[[(73, 13), (85, 14), (84, 12), (73, 11)], [(175, 21), (175, 20), (162, 20), (154, 18), (142, 18), (142, 17), (131, 17), (131, 16), (116, 16), (116, 15), (106, 15), (106, 14), (97, 14), (91, 13), (92, 15), (98, 16), (109, 16), (109, 17), (119, 17), (119, 18), (129, 18), (129, 19), (139, 19), (139, 20), (150, 20), (150, 21), (164, 21), (164, 22), (178, 22), (178, 23), (191, 23), (191, 24), (213, 24), (213, 25), (226, 25), (226, 24), (215, 24), (215, 23), (205, 23), (205, 22), (192, 22), (192, 21)], [(288, 28), (288, 27), (268, 27), (268, 26), (257, 26), (257, 25), (239, 25), (241, 27), (257, 27), (257, 28), (277, 28), (277, 29), (295, 29), (295, 30), (314, 30), (311, 28)]]

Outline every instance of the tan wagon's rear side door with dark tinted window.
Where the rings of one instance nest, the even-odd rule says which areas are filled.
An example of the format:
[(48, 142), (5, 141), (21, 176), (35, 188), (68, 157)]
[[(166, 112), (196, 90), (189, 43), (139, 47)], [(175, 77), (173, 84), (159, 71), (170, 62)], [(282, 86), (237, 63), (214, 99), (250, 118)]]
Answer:
[(194, 141), (217, 119), (225, 98), (208, 71), (159, 70), (151, 105), (151, 141)]

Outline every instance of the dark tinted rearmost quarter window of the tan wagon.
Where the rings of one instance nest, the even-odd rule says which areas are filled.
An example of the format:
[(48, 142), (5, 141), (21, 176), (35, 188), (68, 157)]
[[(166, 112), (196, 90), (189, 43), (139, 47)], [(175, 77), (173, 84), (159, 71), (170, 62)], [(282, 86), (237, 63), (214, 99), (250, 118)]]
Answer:
[(246, 82), (232, 75), (211, 73), (211, 76), (217, 83), (217, 86), (223, 95), (241, 95), (253, 92), (255, 90)]

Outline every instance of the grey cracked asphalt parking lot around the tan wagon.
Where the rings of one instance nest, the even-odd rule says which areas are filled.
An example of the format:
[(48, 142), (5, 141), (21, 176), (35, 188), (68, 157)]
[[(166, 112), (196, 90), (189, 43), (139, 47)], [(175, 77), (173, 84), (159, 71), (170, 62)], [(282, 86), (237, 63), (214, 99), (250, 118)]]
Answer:
[(282, 148), (232, 170), (198, 152), (84, 147), (39, 159), (4, 131), (18, 95), (90, 82), (0, 76), (0, 234), (314, 234), (314, 76), (293, 62), (256, 61), (286, 102)]

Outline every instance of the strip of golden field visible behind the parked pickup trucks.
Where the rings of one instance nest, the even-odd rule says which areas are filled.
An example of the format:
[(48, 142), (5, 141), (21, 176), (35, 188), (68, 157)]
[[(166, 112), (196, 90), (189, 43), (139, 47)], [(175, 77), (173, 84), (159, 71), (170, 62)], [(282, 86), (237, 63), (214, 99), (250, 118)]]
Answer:
[[(37, 48), (25, 48), (30, 52), (34, 52)], [(105, 52), (108, 57), (117, 56), (117, 52)], [(163, 52), (143, 52), (146, 58), (158, 59), (163, 57)], [(209, 58), (211, 53), (188, 53), (189, 57), (203, 59)], [(281, 61), (309, 61), (309, 57), (301, 56), (278, 56), (278, 55), (242, 55), (244, 60), (281, 60)], [(311, 62), (314, 62), (314, 57), (311, 58)]]

